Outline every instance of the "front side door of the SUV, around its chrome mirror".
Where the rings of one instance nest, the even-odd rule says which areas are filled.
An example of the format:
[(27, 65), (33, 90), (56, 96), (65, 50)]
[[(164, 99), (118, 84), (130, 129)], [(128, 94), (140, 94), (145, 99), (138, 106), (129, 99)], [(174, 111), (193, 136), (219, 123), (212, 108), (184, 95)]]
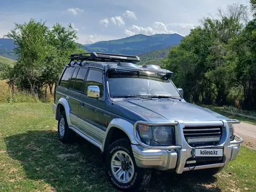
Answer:
[[(101, 92), (99, 98), (87, 96), (88, 86), (99, 87)], [(101, 69), (89, 69), (80, 102), (78, 119), (83, 124), (83, 129), (86, 131), (87, 136), (101, 144), (106, 130), (106, 127), (102, 126), (102, 107), (105, 105), (105, 91)]]

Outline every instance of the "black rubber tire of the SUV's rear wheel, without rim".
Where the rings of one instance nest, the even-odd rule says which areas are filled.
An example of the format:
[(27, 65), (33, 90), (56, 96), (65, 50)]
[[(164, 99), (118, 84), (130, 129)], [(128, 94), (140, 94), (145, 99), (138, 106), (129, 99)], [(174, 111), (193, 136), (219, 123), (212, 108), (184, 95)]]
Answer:
[[(65, 129), (64, 129), (65, 131), (63, 135), (61, 134), (61, 128), (60, 128), (62, 119), (64, 119), (65, 121)], [(58, 137), (59, 137), (59, 140), (61, 140), (63, 143), (71, 143), (74, 138), (74, 131), (69, 129), (69, 126), (67, 125), (67, 118), (66, 118), (65, 111), (61, 113), (61, 116), (58, 120)]]

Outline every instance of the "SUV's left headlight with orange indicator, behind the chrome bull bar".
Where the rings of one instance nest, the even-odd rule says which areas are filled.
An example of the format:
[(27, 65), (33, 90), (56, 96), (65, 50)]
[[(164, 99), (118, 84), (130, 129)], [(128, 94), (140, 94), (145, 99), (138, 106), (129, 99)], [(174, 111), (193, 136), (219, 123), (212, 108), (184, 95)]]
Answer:
[(136, 127), (140, 140), (151, 146), (170, 146), (174, 143), (174, 126), (148, 126), (138, 124)]

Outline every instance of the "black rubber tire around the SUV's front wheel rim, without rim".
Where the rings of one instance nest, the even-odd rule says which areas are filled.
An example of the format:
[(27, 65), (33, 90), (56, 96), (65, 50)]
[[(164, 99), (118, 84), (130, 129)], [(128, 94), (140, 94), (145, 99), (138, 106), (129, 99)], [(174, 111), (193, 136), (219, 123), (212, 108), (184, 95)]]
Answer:
[[(134, 175), (129, 183), (121, 183), (119, 182), (115, 176), (113, 175), (111, 169), (111, 159), (112, 156), (117, 151), (125, 151), (131, 157), (134, 165)], [(130, 140), (126, 138), (122, 138), (120, 140), (116, 140), (113, 142), (105, 154), (105, 168), (106, 174), (108, 175), (109, 181), (115, 186), (117, 189), (122, 191), (141, 191), (143, 190), (151, 179), (151, 169), (143, 169), (139, 168), (136, 165), (133, 151), (131, 150)]]

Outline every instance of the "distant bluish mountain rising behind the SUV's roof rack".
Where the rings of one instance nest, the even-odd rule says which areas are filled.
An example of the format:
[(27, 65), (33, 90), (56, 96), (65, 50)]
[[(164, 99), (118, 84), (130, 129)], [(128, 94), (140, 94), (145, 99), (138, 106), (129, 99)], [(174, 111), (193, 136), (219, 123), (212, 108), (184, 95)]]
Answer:
[(157, 49), (179, 44), (183, 36), (179, 34), (133, 35), (119, 40), (99, 41), (84, 45), (88, 52), (107, 52), (110, 54), (140, 55)]

